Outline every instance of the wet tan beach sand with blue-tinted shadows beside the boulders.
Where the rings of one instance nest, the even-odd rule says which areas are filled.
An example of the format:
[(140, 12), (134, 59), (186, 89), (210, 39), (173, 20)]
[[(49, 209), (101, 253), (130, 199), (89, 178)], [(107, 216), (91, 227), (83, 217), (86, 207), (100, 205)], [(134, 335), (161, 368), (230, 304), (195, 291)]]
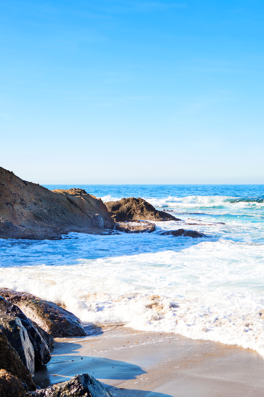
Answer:
[(123, 326), (92, 331), (100, 333), (56, 338), (36, 384), (88, 373), (116, 397), (264, 397), (264, 360), (255, 351)]

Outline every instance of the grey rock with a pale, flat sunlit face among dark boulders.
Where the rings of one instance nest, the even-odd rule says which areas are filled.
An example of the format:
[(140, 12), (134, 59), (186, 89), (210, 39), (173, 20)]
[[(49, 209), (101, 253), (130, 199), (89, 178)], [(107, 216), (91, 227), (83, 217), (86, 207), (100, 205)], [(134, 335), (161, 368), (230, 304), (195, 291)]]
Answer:
[(6, 335), (10, 345), (17, 351), (21, 361), (33, 375), (35, 371), (34, 349), (20, 318), (0, 317), (0, 330)]

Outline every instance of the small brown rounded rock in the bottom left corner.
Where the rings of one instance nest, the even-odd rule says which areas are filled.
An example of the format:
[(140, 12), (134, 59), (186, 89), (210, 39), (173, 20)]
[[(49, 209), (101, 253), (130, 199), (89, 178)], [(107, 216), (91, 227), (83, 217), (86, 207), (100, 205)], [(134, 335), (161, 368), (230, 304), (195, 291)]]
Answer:
[(26, 391), (21, 380), (3, 369), (0, 369), (0, 396), (26, 397)]

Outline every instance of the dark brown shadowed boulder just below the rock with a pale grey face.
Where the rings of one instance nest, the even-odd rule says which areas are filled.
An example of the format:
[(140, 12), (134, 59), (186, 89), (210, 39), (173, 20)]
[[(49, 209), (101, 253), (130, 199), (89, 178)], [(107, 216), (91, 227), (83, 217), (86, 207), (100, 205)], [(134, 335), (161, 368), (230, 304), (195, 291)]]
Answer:
[(10, 345), (6, 335), (2, 331), (0, 331), (0, 368), (11, 372), (14, 376), (17, 376), (17, 378), (27, 385), (28, 390), (36, 390), (36, 385), (32, 380), (30, 372), (25, 367), (19, 358), (19, 355)]

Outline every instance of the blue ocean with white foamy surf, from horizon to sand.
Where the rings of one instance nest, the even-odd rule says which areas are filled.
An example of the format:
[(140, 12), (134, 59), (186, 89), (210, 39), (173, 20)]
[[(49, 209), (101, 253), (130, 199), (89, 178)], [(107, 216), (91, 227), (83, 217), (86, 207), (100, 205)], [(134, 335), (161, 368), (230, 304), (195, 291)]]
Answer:
[(80, 187), (104, 202), (142, 197), (181, 219), (155, 222), (157, 230), (205, 237), (0, 239), (0, 287), (63, 303), (85, 324), (173, 332), (264, 357), (264, 185), (44, 186)]

